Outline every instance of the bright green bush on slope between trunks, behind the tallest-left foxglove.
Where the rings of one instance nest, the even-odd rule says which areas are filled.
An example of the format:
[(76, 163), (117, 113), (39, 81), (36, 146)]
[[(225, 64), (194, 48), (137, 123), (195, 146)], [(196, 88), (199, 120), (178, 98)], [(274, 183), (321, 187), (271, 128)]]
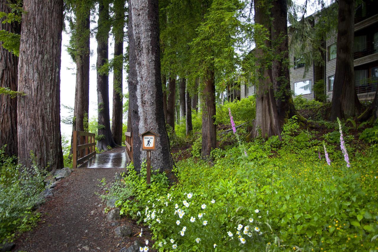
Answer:
[(236, 125), (245, 122), (251, 124), (252, 120), (254, 120), (256, 116), (256, 98), (254, 95), (251, 95), (240, 101), (225, 101), (223, 105), (218, 105), (217, 114), (215, 115), (216, 124), (231, 124), (228, 108), (230, 108), (232, 111), (232, 116), (234, 117), (234, 122)]

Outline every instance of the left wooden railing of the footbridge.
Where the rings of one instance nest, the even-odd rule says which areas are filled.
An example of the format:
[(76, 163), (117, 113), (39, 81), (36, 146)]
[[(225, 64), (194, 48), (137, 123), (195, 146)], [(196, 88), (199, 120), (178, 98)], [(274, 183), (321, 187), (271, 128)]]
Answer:
[(72, 167), (84, 163), (96, 155), (95, 134), (85, 131), (73, 131)]

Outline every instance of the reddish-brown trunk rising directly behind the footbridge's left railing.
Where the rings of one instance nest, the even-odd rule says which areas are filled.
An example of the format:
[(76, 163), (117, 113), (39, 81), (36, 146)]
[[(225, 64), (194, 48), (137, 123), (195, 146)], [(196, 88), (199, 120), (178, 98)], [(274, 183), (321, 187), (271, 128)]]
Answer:
[[(85, 1), (77, 1), (75, 6), (76, 24), (73, 36), (76, 48), (76, 88), (74, 120), (72, 130), (88, 131), (89, 111), (89, 58), (90, 58), (90, 6)], [(73, 151), (73, 134), (71, 150)]]

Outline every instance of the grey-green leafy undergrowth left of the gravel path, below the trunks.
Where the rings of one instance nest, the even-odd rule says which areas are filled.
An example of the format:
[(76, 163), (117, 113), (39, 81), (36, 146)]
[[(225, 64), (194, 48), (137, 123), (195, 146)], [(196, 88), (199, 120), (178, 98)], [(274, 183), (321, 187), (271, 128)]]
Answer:
[(5, 156), (4, 148), (0, 149), (0, 244), (12, 241), (16, 232), (31, 230), (39, 217), (32, 208), (44, 190), (46, 171), (16, 162), (15, 157)]

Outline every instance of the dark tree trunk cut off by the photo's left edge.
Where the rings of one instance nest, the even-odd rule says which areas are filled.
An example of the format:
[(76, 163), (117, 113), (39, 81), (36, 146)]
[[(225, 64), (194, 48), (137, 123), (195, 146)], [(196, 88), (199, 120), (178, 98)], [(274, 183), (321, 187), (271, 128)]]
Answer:
[[(0, 0), (0, 12), (9, 13), (9, 3), (16, 1)], [(20, 34), (21, 25), (17, 22), (2, 23), (0, 30)], [(19, 58), (2, 47), (0, 42), (0, 87), (17, 91), (17, 64)], [(17, 156), (17, 97), (0, 94), (0, 148), (7, 145), (5, 154)]]

